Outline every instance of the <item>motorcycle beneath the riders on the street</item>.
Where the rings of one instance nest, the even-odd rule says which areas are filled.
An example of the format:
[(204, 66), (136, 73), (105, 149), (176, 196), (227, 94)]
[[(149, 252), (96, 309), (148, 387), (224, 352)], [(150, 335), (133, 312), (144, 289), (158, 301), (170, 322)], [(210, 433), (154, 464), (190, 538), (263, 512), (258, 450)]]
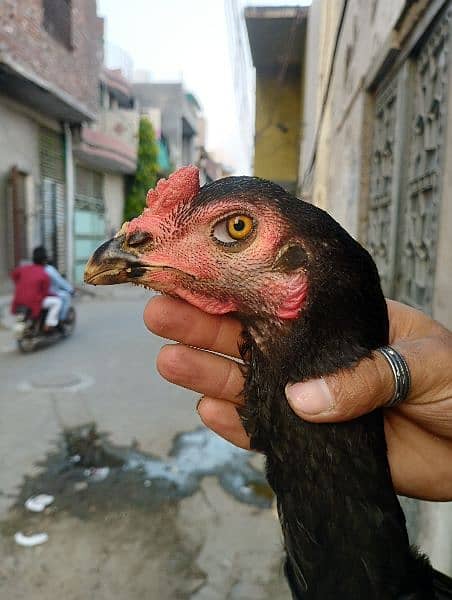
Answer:
[(75, 328), (75, 308), (69, 308), (67, 317), (60, 321), (52, 331), (45, 331), (44, 324), (47, 310), (41, 310), (37, 318), (31, 317), (31, 311), (27, 306), (18, 306), (16, 309), (16, 322), (14, 323), (14, 335), (21, 352), (33, 352), (40, 346), (54, 344), (58, 340), (71, 335)]

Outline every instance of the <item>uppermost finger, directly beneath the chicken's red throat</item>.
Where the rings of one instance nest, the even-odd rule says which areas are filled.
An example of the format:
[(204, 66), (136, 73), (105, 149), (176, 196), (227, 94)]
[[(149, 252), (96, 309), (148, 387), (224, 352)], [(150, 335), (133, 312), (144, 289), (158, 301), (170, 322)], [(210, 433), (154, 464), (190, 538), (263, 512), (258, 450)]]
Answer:
[(242, 327), (230, 317), (209, 315), (183, 300), (156, 296), (144, 309), (144, 322), (161, 337), (239, 357)]

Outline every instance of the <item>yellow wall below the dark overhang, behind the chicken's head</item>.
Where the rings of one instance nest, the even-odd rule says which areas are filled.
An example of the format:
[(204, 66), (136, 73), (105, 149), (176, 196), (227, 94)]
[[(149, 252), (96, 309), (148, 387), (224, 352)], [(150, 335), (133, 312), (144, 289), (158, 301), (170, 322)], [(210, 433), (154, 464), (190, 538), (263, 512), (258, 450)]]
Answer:
[(296, 190), (300, 147), (300, 73), (283, 84), (272, 71), (256, 71), (254, 174)]

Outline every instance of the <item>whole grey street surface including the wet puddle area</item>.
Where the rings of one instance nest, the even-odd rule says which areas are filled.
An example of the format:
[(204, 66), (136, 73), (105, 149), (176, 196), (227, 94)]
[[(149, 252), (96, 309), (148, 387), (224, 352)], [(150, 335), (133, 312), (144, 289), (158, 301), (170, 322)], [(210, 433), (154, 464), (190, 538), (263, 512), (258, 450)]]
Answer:
[[(0, 329), (2, 598), (289, 597), (262, 460), (201, 428), (196, 395), (160, 378), (148, 295), (83, 296), (73, 336), (28, 355)], [(27, 511), (35, 494), (54, 501)]]

